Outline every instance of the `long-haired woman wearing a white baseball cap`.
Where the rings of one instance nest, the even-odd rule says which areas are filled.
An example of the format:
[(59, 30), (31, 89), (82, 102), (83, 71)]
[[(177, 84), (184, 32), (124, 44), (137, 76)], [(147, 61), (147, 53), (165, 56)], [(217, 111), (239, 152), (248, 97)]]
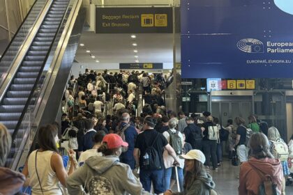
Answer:
[(216, 194), (213, 190), (215, 182), (211, 175), (206, 173), (204, 162), (206, 157), (200, 150), (190, 150), (186, 155), (180, 155), (181, 159), (185, 159), (186, 174), (184, 177), (183, 192), (172, 192), (167, 190), (164, 195), (209, 195)]

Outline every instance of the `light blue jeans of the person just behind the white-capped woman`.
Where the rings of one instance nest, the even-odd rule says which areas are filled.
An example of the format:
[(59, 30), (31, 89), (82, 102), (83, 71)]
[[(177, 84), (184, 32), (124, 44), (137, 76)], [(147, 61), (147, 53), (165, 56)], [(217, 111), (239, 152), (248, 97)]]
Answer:
[[(183, 169), (177, 166), (177, 171), (178, 171), (178, 179), (179, 179), (179, 186), (180, 186), (180, 191), (183, 192)], [(168, 169), (165, 169), (164, 171), (164, 191), (167, 189), (170, 189), (170, 181), (171, 178), (176, 180), (176, 173), (175, 173), (175, 168), (170, 167)]]

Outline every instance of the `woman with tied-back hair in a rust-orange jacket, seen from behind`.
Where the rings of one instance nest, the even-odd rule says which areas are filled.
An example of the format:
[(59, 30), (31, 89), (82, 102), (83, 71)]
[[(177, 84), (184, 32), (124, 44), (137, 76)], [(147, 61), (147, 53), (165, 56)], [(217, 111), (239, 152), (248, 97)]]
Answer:
[[(264, 176), (269, 176), (276, 193), (281, 194), (283, 171), (279, 159), (274, 159), (269, 150), (269, 140), (263, 133), (252, 134), (249, 139), (250, 159), (241, 164), (239, 195), (261, 194)], [(264, 187), (265, 188), (265, 187)]]

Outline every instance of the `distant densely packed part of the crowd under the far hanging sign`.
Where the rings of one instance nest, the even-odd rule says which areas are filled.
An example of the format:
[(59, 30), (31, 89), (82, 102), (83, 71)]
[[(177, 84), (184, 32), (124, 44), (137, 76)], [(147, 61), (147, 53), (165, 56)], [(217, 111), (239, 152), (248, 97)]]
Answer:
[[(145, 109), (160, 109), (165, 111), (163, 91), (172, 82), (171, 75), (163, 73), (124, 71), (103, 73), (88, 70), (80, 74), (77, 79), (70, 77), (69, 88), (63, 100), (68, 104), (68, 115), (73, 116), (80, 111), (89, 111), (91, 114), (102, 116), (105, 103), (113, 100), (114, 112), (126, 108), (130, 114), (135, 115), (140, 92), (144, 96)], [(76, 88), (78, 86), (78, 88)], [(141, 88), (141, 90), (140, 90)], [(78, 92), (73, 94), (74, 89)], [(139, 91), (140, 90), (140, 91)]]

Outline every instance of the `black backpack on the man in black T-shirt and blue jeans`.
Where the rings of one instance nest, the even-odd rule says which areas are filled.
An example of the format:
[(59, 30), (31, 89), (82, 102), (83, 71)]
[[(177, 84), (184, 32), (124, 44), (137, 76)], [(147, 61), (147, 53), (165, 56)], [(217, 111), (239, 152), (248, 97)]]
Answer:
[[(153, 148), (153, 144), (156, 143), (156, 140), (158, 139), (160, 133), (157, 132), (156, 138), (153, 140), (153, 143), (151, 146), (147, 146), (146, 152), (144, 153), (144, 156), (142, 157), (142, 168), (149, 170), (149, 171), (155, 171), (160, 170), (163, 167), (160, 166), (160, 157), (158, 155), (158, 151), (156, 148)], [(147, 144), (146, 144), (147, 145)]]

